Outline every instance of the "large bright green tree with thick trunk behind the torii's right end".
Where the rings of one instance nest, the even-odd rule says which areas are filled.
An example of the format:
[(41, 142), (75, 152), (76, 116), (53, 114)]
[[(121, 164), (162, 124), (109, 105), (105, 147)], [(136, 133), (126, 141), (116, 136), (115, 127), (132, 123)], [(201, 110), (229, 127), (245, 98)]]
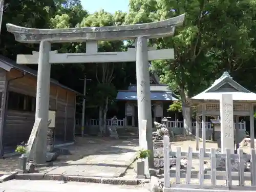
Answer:
[[(230, 63), (232, 68), (240, 66), (241, 60), (248, 60), (254, 53), (251, 48), (253, 39), (248, 37), (248, 29), (253, 24), (252, 13), (255, 13), (255, 2), (247, 0), (237, 2), (239, 3), (228, 0), (221, 2), (130, 0), (130, 15), (126, 17), (127, 23), (155, 22), (182, 13), (186, 14), (183, 26), (176, 28), (173, 37), (151, 40), (151, 44), (155, 44), (159, 49), (174, 48), (174, 60), (153, 61), (152, 64), (160, 73), (161, 80), (168, 83), (169, 87), (180, 95), (186, 134), (191, 134), (190, 107), (193, 102), (189, 97), (209, 87), (217, 74), (226, 70), (225, 65)], [(246, 9), (252, 4), (254, 5), (252, 8)], [(234, 22), (235, 25), (232, 24)], [(236, 41), (237, 38), (241, 39)], [(228, 39), (226, 47), (216, 47), (217, 43), (223, 45), (225, 39)], [(229, 49), (224, 50), (225, 48)], [(220, 59), (218, 53), (222, 58), (226, 54), (224, 56), (226, 60)]]

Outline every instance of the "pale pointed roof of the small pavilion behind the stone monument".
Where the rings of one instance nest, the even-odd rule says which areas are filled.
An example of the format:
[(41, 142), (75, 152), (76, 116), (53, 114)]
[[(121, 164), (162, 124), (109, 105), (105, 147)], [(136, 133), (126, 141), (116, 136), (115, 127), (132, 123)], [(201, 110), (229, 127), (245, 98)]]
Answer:
[(192, 97), (193, 100), (220, 100), (222, 94), (231, 94), (236, 101), (256, 101), (256, 94), (234, 81), (228, 72), (212, 83), (211, 87)]

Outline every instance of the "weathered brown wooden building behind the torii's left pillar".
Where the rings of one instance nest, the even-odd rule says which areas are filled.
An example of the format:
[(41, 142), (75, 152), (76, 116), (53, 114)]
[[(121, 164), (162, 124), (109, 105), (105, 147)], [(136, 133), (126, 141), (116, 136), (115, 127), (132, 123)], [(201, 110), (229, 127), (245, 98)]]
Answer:
[[(27, 142), (35, 120), (37, 71), (0, 56), (1, 151)], [(51, 79), (49, 110), (56, 111), (55, 138), (73, 141), (76, 91)]]

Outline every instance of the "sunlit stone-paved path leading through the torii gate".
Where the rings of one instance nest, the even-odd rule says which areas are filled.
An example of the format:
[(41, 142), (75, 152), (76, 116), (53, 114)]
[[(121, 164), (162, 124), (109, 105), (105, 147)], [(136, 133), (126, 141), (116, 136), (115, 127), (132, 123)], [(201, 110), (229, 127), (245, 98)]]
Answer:
[(67, 161), (54, 169), (44, 170), (46, 175), (120, 177), (134, 161), (139, 150), (138, 140), (119, 140), (104, 146), (93, 155)]

